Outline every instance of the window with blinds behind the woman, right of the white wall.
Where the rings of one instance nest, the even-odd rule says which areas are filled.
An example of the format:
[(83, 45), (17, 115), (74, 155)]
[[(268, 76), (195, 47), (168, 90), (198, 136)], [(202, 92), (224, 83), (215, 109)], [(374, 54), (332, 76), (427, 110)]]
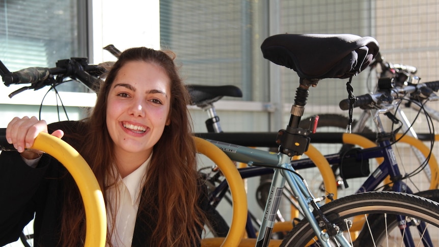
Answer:
[(235, 85), (243, 100), (268, 100), (263, 2), (160, 1), (161, 47), (176, 52), (187, 84)]

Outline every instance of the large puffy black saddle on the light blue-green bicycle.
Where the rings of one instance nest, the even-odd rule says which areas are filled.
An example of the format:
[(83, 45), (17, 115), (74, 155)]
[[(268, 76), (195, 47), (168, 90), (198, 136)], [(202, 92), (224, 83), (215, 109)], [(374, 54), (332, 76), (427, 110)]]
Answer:
[(264, 58), (293, 69), (300, 78), (349, 78), (375, 58), (378, 42), (352, 34), (278, 34), (261, 45)]

